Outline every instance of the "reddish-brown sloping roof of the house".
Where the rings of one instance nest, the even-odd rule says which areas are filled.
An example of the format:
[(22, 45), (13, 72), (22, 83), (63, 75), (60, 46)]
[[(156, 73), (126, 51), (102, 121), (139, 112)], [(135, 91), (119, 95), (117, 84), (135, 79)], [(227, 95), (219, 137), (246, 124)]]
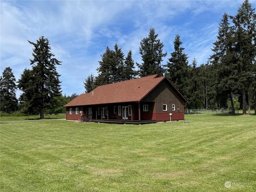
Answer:
[(151, 75), (128, 81), (101, 85), (90, 93), (79, 95), (67, 103), (65, 107), (140, 101), (163, 81), (163, 79), (165, 79), (165, 77)]

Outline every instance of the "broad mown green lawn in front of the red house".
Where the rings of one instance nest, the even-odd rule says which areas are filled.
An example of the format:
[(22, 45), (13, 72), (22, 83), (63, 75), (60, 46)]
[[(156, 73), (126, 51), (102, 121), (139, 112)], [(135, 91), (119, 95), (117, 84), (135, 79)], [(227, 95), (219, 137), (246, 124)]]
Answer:
[(2, 123), (0, 190), (255, 191), (256, 116), (186, 120)]

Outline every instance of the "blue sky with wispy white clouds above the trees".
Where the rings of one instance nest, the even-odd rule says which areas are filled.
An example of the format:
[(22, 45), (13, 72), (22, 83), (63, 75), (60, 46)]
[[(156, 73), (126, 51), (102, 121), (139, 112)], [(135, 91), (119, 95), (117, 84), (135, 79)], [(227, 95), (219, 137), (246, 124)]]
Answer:
[[(140, 40), (154, 27), (167, 58), (175, 34), (181, 36), (189, 62), (207, 61), (222, 14), (234, 15), (243, 1), (1, 1), (1, 74), (10, 66), (16, 79), (25, 68), (39, 36), (49, 38), (62, 61), (62, 93), (81, 94), (84, 79), (97, 75), (106, 46), (117, 43), (141, 62)], [(251, 1), (253, 7), (256, 1)], [(19, 92), (18, 92), (19, 95)]]

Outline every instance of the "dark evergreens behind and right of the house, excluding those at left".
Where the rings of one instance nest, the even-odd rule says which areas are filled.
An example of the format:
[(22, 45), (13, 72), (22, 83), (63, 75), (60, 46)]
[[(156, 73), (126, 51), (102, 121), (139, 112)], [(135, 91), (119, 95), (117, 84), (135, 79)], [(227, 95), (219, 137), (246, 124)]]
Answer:
[(85, 79), (85, 90), (90, 92), (99, 85), (158, 74), (169, 78), (184, 95), (188, 100), (186, 108), (230, 108), (231, 114), (240, 108), (246, 114), (246, 108), (249, 111), (254, 108), (256, 113), (255, 23), (255, 9), (247, 0), (236, 15), (224, 13), (213, 43), (213, 54), (199, 66), (195, 58), (188, 63), (179, 35), (173, 42), (174, 51), (167, 63), (163, 63), (167, 55), (163, 52), (164, 44), (151, 28), (149, 35), (140, 42), (142, 63), (135, 63), (138, 70), (134, 70), (131, 51), (124, 59), (117, 44), (114, 50), (107, 47), (101, 55), (98, 76), (90, 75)]

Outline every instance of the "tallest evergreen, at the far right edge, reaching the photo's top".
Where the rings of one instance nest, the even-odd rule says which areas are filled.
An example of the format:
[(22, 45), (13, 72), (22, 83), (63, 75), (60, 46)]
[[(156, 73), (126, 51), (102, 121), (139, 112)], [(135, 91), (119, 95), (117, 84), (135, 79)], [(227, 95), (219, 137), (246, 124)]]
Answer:
[(253, 66), (256, 57), (256, 14), (248, 0), (243, 2), (232, 20), (236, 41), (237, 86), (242, 92), (243, 114), (246, 114), (246, 93), (253, 82)]

